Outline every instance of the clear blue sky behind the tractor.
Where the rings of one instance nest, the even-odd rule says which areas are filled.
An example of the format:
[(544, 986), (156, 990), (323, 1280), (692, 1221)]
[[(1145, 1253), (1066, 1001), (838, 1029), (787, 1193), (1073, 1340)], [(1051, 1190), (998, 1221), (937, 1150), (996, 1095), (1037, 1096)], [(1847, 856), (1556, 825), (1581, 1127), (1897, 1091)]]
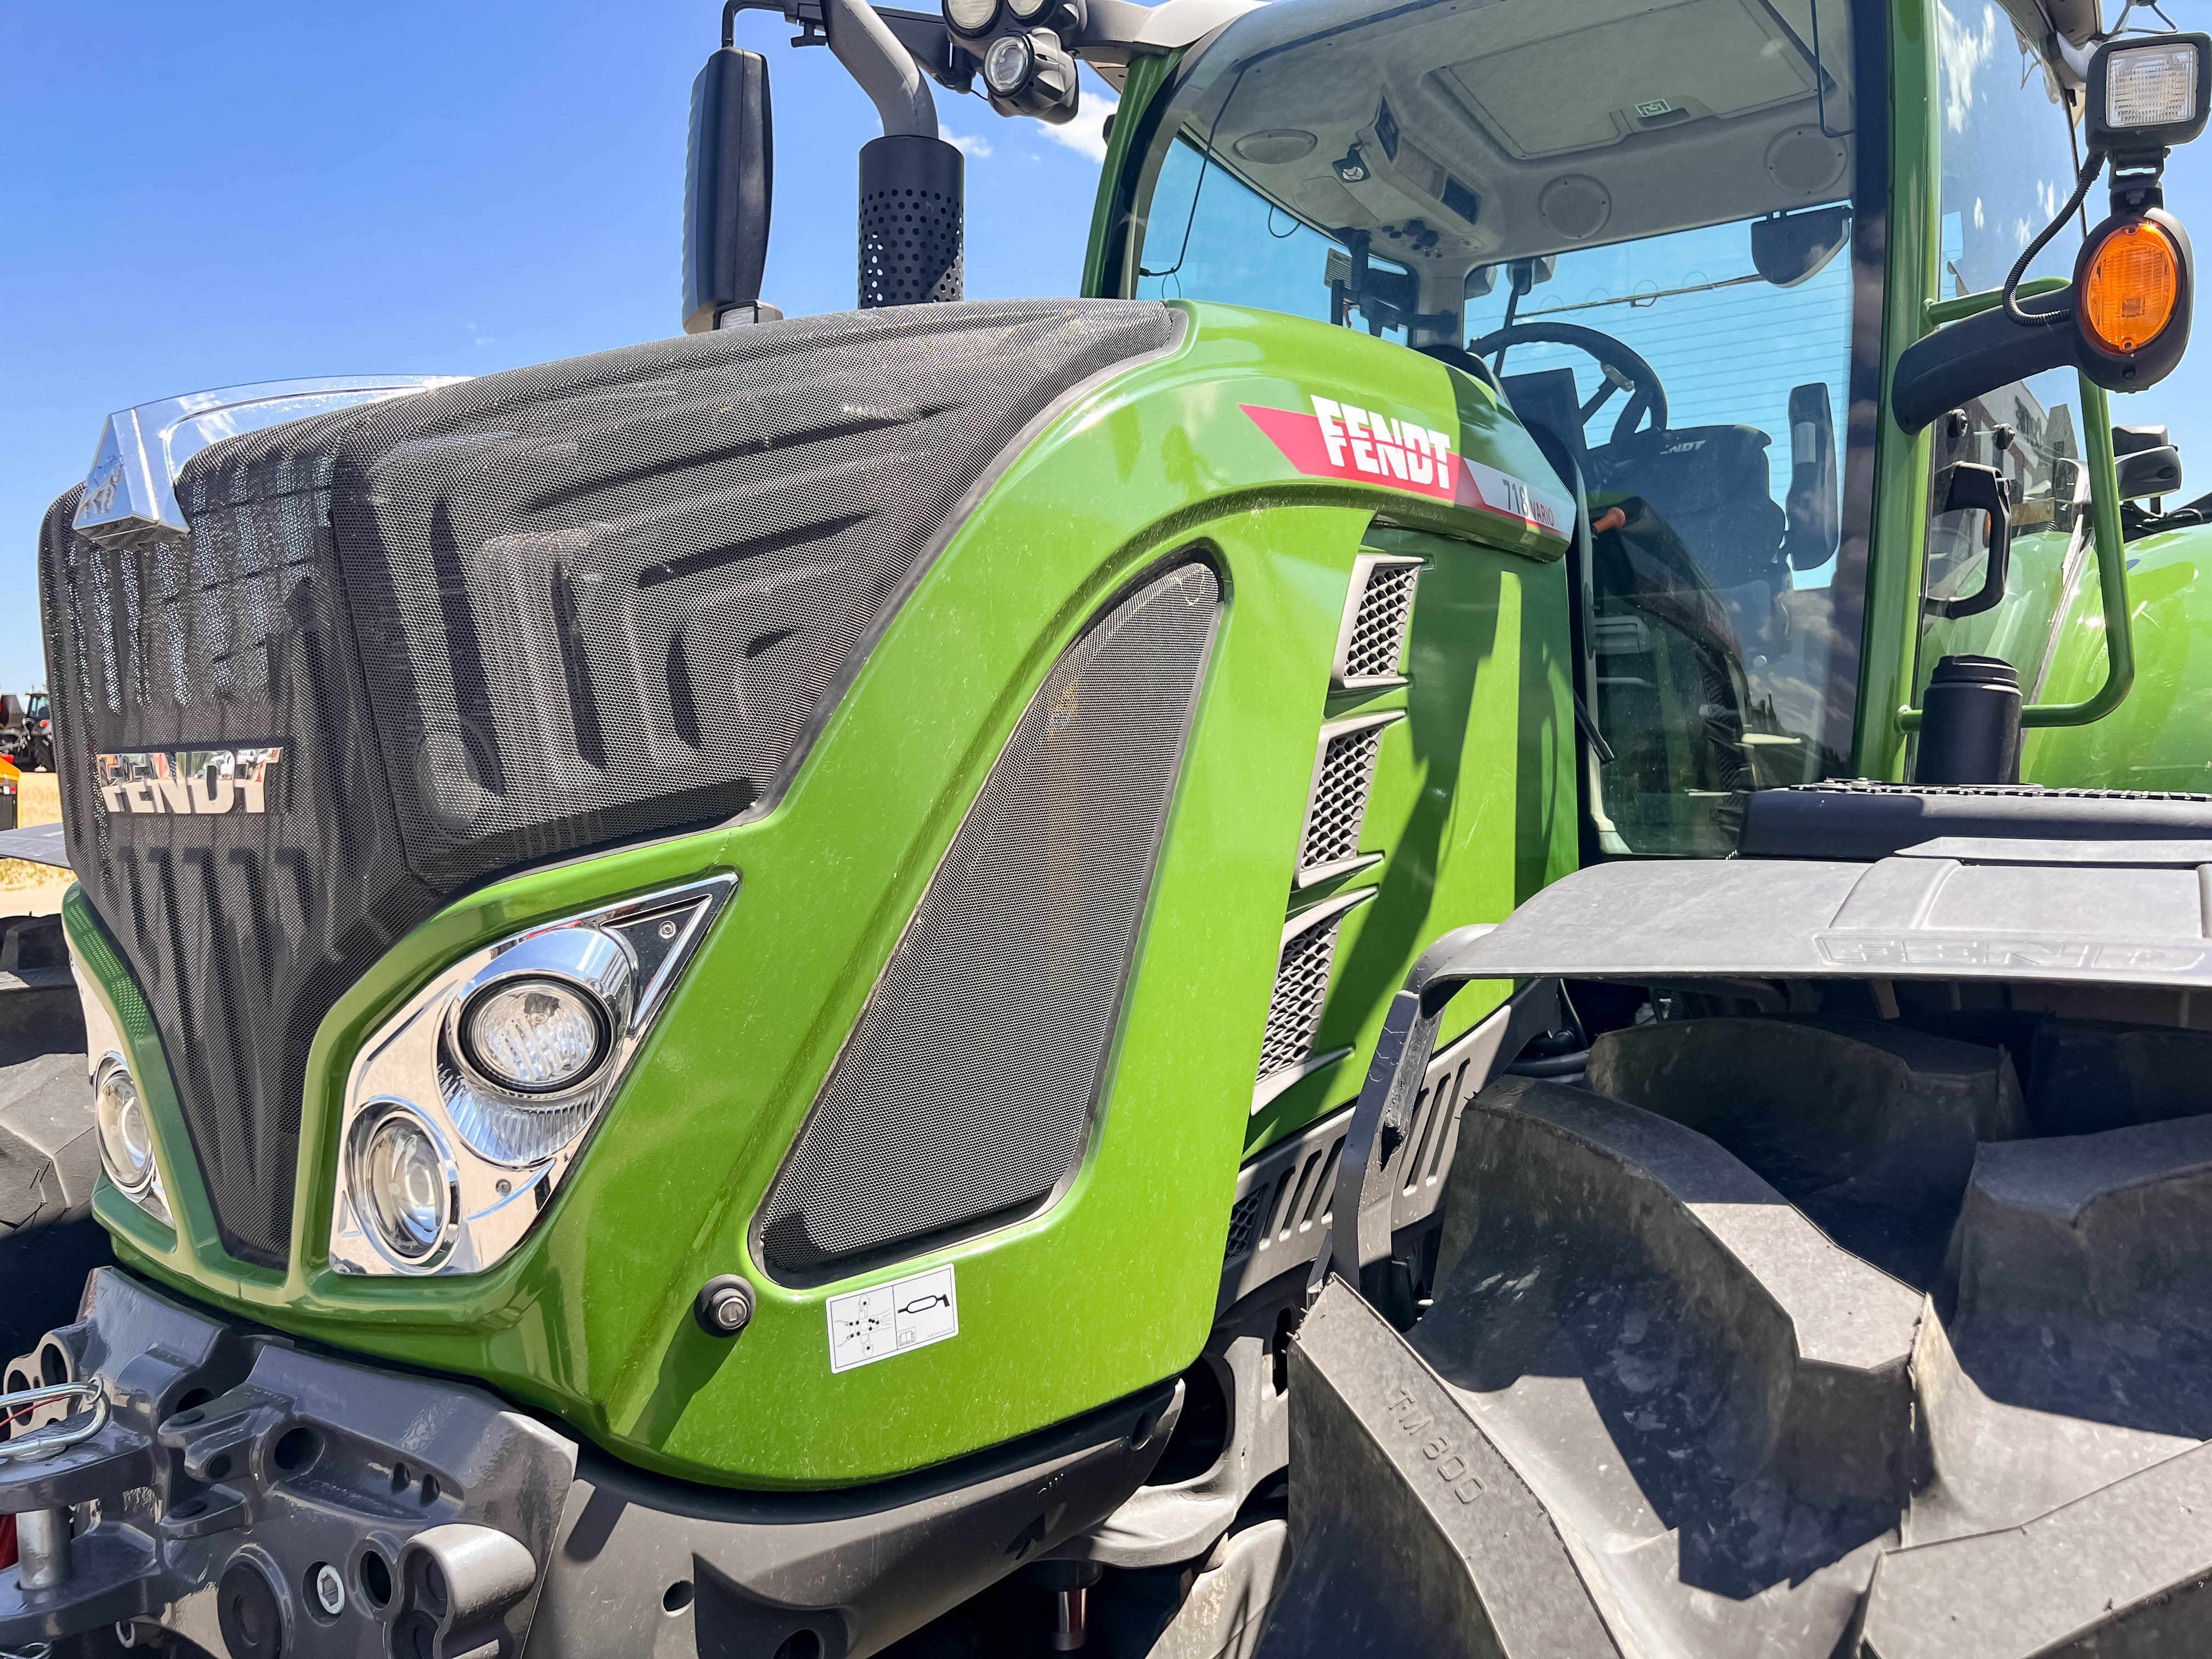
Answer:
[[(44, 679), (33, 544), (102, 418), (307, 374), (484, 374), (679, 325), (690, 80), (714, 0), (380, 7), (0, 0), (0, 690)], [(768, 296), (854, 299), (874, 111), (772, 13)], [(971, 296), (1071, 294), (1097, 117), (1006, 122), (938, 93), (969, 148)], [(2212, 237), (2212, 139), (2170, 206)], [(2208, 243), (2212, 246), (2212, 243)], [(2212, 487), (2212, 345), (2121, 420), (2166, 420)]]

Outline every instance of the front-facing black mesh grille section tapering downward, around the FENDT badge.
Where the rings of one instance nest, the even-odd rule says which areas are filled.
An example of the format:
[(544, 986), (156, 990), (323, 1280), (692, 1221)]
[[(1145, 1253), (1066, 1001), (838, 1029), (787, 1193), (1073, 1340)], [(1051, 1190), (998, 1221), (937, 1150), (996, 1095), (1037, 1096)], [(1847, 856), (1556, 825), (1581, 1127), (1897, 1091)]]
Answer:
[[(46, 515), (40, 577), (69, 858), (161, 1031), (223, 1248), (281, 1267), (307, 1044), (363, 964), (436, 909), (407, 874), (345, 595), (330, 456), (294, 427), (206, 451), (195, 535), (108, 553)], [(265, 812), (113, 816), (91, 757), (276, 743)]]

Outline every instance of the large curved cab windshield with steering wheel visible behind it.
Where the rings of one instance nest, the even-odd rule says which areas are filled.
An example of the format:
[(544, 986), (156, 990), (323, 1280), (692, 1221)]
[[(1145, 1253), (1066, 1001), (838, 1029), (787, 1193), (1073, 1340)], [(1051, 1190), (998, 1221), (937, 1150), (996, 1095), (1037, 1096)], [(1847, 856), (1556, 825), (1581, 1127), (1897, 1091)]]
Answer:
[(1608, 854), (1849, 770), (1854, 64), (1845, 0), (1279, 0), (1148, 115), (1124, 294), (1495, 372), (1579, 476)]

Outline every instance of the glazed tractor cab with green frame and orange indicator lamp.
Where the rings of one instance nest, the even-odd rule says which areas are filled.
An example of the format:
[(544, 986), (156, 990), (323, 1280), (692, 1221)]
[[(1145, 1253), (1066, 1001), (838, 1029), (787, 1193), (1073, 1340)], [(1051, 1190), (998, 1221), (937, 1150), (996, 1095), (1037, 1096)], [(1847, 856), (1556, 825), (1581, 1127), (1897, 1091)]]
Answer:
[[(1918, 703), (1951, 655), (2011, 670), (2024, 776), (2201, 772), (2152, 783), (2033, 737), (2121, 706), (2124, 533), (2194, 522), (2128, 504), (2121, 529), (2181, 469), (2146, 427), (2119, 431), (2139, 453), (2115, 471), (2104, 392), (2163, 372), (2152, 334), (2179, 356), (2188, 241), (2159, 212), (2163, 146), (2108, 131), (2106, 80), (2128, 77), (2121, 100), (2157, 80), (2188, 133), (2201, 46), (2115, 35), (2090, 64), (2088, 4), (1924, 11), (1294, 2), (1172, 69), (1135, 60), (1097, 292), (1442, 358), (1502, 389), (1582, 504), (1586, 856), (1725, 854), (1745, 792), (1818, 779), (2017, 781), (2017, 741), (1920, 765)], [(2115, 217), (2090, 234), (2104, 148)], [(2095, 254), (2121, 246), (2150, 288), (2112, 312), (2154, 319), (2104, 349), (2042, 301), (1978, 372), (1922, 374), (1942, 407), (1900, 425), (1885, 387), (1907, 347), (1955, 356), (1942, 323), (2077, 265), (2110, 285), (2119, 259)]]

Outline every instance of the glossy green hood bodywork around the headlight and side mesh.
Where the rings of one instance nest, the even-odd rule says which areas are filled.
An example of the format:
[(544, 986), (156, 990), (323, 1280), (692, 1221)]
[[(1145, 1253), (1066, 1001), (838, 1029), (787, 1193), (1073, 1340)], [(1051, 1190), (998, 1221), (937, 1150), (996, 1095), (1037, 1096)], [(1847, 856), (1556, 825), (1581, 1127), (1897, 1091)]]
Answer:
[[(484, 887), (338, 1000), (307, 1062), (288, 1272), (221, 1252), (188, 1159), (164, 1166), (175, 1234), (102, 1188), (124, 1259), (265, 1325), (480, 1378), (644, 1467), (734, 1486), (878, 1480), (1186, 1367), (1212, 1323), (1239, 1161), (1352, 1099), (1422, 945), (1566, 872), (1575, 785), (1564, 538), (1531, 522), (1564, 491), (1517, 420), (1396, 345), (1183, 310), (1172, 356), (1091, 387), (973, 504), (774, 812)], [(1482, 504), (1356, 471), (1316, 396), (1380, 416), (1394, 438), (1449, 436), (1478, 462), (1464, 473)], [(1279, 431), (1305, 422), (1298, 453), (1321, 471), (1301, 471), (1248, 407), (1276, 411)], [(1429, 560), (1411, 684), (1332, 699), (1363, 544)], [(880, 1272), (770, 1281), (748, 1230), (978, 785), (1099, 604), (1181, 549), (1214, 562), (1228, 597), (1073, 1183), (1042, 1214)], [(1345, 927), (1318, 1040), (1352, 1053), (1252, 1117), (1316, 734), (1389, 708), (1407, 717), (1363, 838), (1385, 854), (1360, 876), (1378, 896)], [(538, 1230), (471, 1279), (332, 1272), (332, 1137), (363, 1037), (487, 940), (710, 872), (737, 872), (739, 894)], [(142, 998), (82, 896), (66, 916), (157, 1133), (181, 1146)], [(1471, 987), (1453, 1026), (1500, 993)], [(958, 1336), (832, 1374), (825, 1301), (936, 1263), (958, 1272)], [(690, 1316), (726, 1272), (759, 1296), (734, 1340)]]

